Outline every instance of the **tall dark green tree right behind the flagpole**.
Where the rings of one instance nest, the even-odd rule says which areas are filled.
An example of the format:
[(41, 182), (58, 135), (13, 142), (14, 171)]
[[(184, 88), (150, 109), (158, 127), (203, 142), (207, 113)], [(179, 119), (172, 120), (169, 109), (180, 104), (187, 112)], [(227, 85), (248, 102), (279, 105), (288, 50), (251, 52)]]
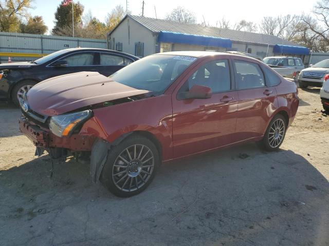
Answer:
[[(71, 27), (72, 29), (72, 4), (74, 6), (74, 25), (78, 27), (81, 23), (81, 16), (83, 13), (83, 5), (78, 3), (69, 3), (67, 6), (63, 6), (63, 2), (57, 7), (55, 12), (55, 21), (54, 21), (54, 28), (52, 29), (51, 33), (53, 35), (61, 35), (62, 29), (67, 29), (67, 27)], [(71, 36), (72, 33), (69, 35)]]

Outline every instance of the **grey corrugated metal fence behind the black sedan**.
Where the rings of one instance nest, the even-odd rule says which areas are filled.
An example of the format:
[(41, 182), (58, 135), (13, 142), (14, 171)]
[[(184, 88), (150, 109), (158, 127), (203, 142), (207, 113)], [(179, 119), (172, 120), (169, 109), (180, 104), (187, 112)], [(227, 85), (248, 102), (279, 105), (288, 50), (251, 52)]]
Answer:
[[(0, 54), (28, 53), (28, 54), (50, 54), (52, 52), (67, 48), (101, 48), (107, 49), (106, 39), (92, 39), (81, 37), (63, 37), (39, 34), (25, 34), (0, 32)], [(38, 55), (40, 57), (40, 55)], [(33, 60), (35, 57), (10, 57), (11, 61)], [(8, 56), (0, 56), (0, 62), (7, 63)]]

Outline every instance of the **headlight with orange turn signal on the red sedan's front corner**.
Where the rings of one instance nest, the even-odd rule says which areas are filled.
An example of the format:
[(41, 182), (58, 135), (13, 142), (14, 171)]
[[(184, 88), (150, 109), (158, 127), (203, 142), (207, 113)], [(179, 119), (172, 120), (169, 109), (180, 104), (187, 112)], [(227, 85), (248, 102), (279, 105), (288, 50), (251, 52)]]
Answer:
[(59, 137), (69, 136), (77, 127), (81, 126), (87, 119), (92, 117), (91, 110), (62, 114), (50, 118), (49, 129)]

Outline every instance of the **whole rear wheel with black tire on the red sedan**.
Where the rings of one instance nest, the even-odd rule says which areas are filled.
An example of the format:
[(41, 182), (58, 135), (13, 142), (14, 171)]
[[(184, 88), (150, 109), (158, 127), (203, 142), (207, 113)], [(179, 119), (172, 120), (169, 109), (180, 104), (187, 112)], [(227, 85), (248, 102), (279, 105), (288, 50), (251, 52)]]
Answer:
[[(277, 124), (277, 122), (280, 122), (280, 126)], [(283, 132), (281, 132), (281, 130), (277, 130), (277, 129), (281, 129), (281, 122), (283, 124)], [(278, 138), (276, 133), (273, 133), (273, 130), (279, 131), (278, 134)], [(270, 124), (268, 125), (265, 135), (263, 137), (263, 147), (265, 148), (265, 150), (267, 151), (276, 151), (280, 148), (280, 146), (282, 145), (282, 142), (284, 140), (284, 137), (286, 135), (286, 131), (287, 131), (287, 122), (286, 119), (283, 117), (283, 115), (281, 114), (277, 114), (276, 116), (274, 116), (270, 122)], [(282, 136), (281, 136), (282, 134)], [(279, 140), (277, 140), (279, 139)], [(275, 141), (275, 142), (274, 142)]]

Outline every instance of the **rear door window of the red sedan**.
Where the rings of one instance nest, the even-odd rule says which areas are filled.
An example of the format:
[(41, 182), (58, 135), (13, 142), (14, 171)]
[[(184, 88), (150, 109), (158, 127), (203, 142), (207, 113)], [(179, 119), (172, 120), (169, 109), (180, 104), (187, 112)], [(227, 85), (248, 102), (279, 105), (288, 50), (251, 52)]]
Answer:
[(264, 74), (258, 64), (234, 60), (234, 76), (239, 90), (265, 87)]

